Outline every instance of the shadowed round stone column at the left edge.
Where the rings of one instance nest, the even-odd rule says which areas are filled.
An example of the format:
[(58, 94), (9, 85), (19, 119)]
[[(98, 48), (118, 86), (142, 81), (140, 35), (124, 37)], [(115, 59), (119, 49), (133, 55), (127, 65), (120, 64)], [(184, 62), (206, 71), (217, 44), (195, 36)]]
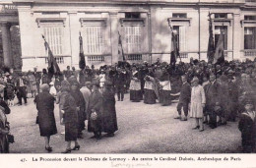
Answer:
[(4, 65), (9, 68), (13, 68), (10, 25), (1, 24), (1, 30), (3, 41)]

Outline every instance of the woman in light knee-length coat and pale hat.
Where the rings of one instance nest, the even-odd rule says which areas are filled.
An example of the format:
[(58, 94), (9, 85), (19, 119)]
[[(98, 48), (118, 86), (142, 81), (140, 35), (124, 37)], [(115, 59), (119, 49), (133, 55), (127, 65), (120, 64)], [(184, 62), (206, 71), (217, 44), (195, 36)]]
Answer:
[(203, 124), (203, 109), (206, 104), (205, 90), (202, 85), (199, 84), (198, 78), (194, 78), (191, 82), (193, 84), (191, 90), (191, 117), (196, 119), (196, 127), (193, 130), (200, 129), (200, 132), (204, 131)]

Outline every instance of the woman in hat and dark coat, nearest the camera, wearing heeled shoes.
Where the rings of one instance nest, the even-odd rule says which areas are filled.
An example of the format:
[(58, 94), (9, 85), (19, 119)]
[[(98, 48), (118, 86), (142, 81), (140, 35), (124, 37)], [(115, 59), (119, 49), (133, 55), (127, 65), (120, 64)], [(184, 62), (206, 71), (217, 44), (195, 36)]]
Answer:
[[(64, 125), (65, 125), (65, 141), (67, 141), (66, 150), (62, 153), (70, 153), (71, 150), (80, 149), (78, 143), (78, 126), (79, 126), (79, 115), (77, 111), (77, 105), (75, 98), (70, 94), (70, 84), (68, 81), (61, 82), (62, 96), (64, 102), (62, 106)], [(75, 142), (75, 146), (71, 148), (71, 142)]]

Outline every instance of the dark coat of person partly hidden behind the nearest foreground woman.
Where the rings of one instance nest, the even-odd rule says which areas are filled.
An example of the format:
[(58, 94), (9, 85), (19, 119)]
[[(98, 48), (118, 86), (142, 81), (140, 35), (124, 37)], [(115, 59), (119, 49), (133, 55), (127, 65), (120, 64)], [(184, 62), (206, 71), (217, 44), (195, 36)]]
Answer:
[(79, 129), (79, 132), (82, 132), (83, 130), (85, 130), (85, 120), (87, 119), (85, 99), (82, 92), (79, 89), (76, 90), (75, 92), (71, 91), (71, 95), (75, 99), (76, 107), (80, 108), (80, 110), (78, 111), (78, 119), (79, 119), (78, 129)]

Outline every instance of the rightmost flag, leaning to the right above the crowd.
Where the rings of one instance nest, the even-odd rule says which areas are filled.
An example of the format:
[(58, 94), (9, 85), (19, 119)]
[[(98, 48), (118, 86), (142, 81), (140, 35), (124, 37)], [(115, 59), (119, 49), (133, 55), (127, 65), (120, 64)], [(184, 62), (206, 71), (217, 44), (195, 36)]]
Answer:
[(216, 45), (214, 64), (221, 64), (223, 62), (224, 62), (224, 32), (222, 30)]

